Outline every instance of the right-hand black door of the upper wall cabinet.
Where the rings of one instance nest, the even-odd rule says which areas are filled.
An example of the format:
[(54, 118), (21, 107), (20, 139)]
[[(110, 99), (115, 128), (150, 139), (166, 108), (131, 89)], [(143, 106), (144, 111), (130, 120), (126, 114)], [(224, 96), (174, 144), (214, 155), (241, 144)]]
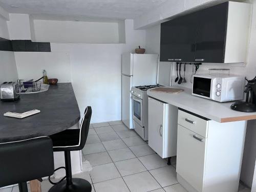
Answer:
[(198, 12), (195, 61), (224, 62), (227, 13), (228, 2)]

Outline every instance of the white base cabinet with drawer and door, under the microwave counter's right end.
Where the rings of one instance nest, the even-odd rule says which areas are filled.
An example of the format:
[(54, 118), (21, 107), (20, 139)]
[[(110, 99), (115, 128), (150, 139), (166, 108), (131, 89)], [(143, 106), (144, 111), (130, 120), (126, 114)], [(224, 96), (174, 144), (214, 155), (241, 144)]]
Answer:
[(237, 192), (246, 121), (218, 123), (179, 110), (178, 181), (189, 192)]

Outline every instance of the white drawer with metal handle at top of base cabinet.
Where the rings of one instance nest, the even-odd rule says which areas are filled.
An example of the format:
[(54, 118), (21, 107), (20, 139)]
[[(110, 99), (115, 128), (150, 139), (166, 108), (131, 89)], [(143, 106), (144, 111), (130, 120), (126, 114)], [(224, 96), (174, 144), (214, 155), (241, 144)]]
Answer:
[(208, 135), (208, 120), (202, 119), (195, 115), (179, 110), (178, 124), (187, 129), (207, 138)]

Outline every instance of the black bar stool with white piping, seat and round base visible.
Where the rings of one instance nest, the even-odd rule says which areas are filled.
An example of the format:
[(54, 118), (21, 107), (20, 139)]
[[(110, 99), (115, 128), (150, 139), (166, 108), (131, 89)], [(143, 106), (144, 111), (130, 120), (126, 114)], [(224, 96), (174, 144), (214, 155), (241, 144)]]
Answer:
[[(86, 144), (91, 116), (92, 116), (92, 108), (91, 106), (87, 106), (86, 111), (84, 112), (84, 116), (82, 118), (80, 129), (65, 130), (50, 136), (53, 141), (53, 151), (54, 152), (63, 151), (65, 153), (66, 180), (56, 183), (52, 188), (50, 188), (49, 192), (53, 192), (53, 191), (90, 192), (92, 191), (92, 186), (90, 182), (88, 182), (87, 180), (80, 179), (80, 178), (72, 179), (71, 158), (70, 158), (71, 151), (80, 151)], [(49, 177), (49, 180), (50, 180), (50, 177)]]

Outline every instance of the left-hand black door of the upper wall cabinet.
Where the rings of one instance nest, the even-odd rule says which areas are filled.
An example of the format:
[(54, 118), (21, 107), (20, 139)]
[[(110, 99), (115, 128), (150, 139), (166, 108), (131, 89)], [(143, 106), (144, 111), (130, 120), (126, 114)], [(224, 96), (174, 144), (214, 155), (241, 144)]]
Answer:
[(192, 13), (161, 24), (160, 61), (195, 60), (197, 23)]

